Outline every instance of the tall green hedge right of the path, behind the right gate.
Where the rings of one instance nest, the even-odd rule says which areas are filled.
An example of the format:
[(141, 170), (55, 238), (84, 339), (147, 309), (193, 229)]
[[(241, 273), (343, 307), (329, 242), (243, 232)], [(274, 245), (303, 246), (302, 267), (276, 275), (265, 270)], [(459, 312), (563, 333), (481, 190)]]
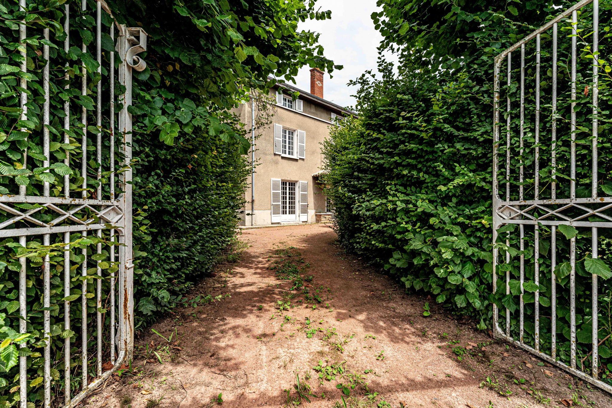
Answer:
[[(324, 146), (324, 180), (327, 195), (335, 207), (335, 228), (341, 243), (373, 265), (394, 273), (405, 283), (407, 291), (431, 295), (448, 312), (471, 316), (478, 327), (491, 327), (492, 307), (500, 308), (501, 325), (505, 326), (506, 308), (510, 311), (510, 332), (519, 333), (518, 294), (520, 294), (518, 228), (504, 228), (498, 243), (491, 242), (492, 163), (493, 163), (493, 58), (507, 46), (542, 25), (559, 12), (552, 3), (498, 1), (416, 1), (381, 0), (381, 12), (373, 21), (384, 36), (381, 49), (392, 49), (400, 64), (379, 64), (382, 76), (365, 73), (354, 85), (358, 87), (359, 119), (332, 130)], [(569, 7), (573, 2), (562, 2)], [(590, 7), (590, 6), (589, 6)], [(578, 129), (577, 196), (590, 196), (590, 99), (589, 21), (591, 8), (579, 14), (578, 40)], [(610, 195), (610, 64), (609, 43), (611, 3), (600, 2), (600, 77), (599, 128), (600, 167), (599, 194)], [(569, 28), (559, 23), (559, 167), (558, 196), (569, 196)], [(540, 197), (550, 196), (550, 95), (551, 36), (542, 35), (542, 114), (540, 144)], [(525, 146), (518, 155), (518, 112), (520, 72), (514, 53), (513, 80), (506, 86), (502, 69), (502, 106), (506, 96), (512, 102), (512, 154), (510, 183), (513, 199), (518, 199), (518, 168), (525, 166), (526, 197), (533, 194), (534, 183), (534, 48), (526, 48)], [(501, 121), (505, 124), (502, 112)], [(502, 136), (506, 128), (502, 125)], [(505, 144), (505, 138), (504, 138)], [(502, 147), (502, 155), (505, 150)], [(583, 165), (584, 163), (584, 165)], [(505, 179), (502, 165), (500, 177)], [(504, 180), (505, 182), (505, 180)], [(502, 185), (503, 187), (503, 185)], [(505, 191), (502, 189), (502, 194)], [(540, 213), (542, 215), (543, 213)], [(597, 218), (591, 218), (596, 220)], [(612, 291), (610, 273), (610, 232), (600, 229), (602, 269), (594, 268), (591, 257), (590, 229), (561, 229), (558, 236), (557, 278), (557, 356), (569, 364), (569, 238), (577, 237), (577, 340), (578, 365), (584, 360), (591, 366), (591, 273), (600, 276), (599, 339), (612, 332), (610, 306)], [(505, 253), (509, 236), (509, 264), (501, 265), (498, 291), (492, 293), (492, 249), (496, 245)], [(525, 333), (527, 343), (534, 345), (534, 292), (540, 291), (540, 349), (551, 349), (551, 273), (550, 236), (547, 227), (540, 228), (540, 285), (534, 280), (533, 229), (526, 228), (525, 250)], [(510, 272), (509, 295), (506, 295), (506, 270)], [(503, 279), (503, 280), (502, 280)], [(548, 318), (546, 318), (547, 316)], [(600, 376), (610, 381), (612, 341), (600, 347)]]

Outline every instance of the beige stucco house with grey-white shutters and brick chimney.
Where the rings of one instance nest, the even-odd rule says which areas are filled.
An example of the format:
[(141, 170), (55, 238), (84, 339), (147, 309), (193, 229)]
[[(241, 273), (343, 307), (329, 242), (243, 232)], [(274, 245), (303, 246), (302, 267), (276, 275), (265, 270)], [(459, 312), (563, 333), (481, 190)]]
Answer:
[[(355, 113), (323, 98), (323, 72), (312, 69), (310, 74), (310, 92), (289, 84), (269, 90), (274, 103), (272, 123), (258, 130), (252, 152), (256, 166), (245, 192), (242, 226), (315, 223), (328, 218), (329, 203), (318, 184), (321, 142), (330, 126)], [(294, 99), (291, 94), (296, 91), (299, 98)], [(250, 103), (237, 113), (245, 124), (252, 123)]]

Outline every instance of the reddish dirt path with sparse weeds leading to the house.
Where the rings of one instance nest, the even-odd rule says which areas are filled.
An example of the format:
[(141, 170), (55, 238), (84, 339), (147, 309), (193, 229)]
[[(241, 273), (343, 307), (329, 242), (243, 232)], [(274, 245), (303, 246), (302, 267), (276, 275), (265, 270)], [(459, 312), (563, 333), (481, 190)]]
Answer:
[[(215, 302), (182, 308), (152, 327), (180, 340), (173, 334), (168, 342), (147, 330), (136, 339), (132, 369), (111, 379), (89, 404), (212, 407), (221, 394), (223, 407), (283, 407), (285, 390), (289, 401), (299, 400), (299, 376), (300, 390), (310, 390), (312, 401), (302, 404), (312, 408), (344, 407), (337, 385), (349, 392), (349, 408), (522, 408), (547, 401), (556, 407), (573, 394), (583, 406), (612, 406), (610, 395), (493, 343), (435, 302), (424, 317), (427, 299), (404, 294), (392, 278), (344, 254), (329, 226), (250, 229), (241, 240), (250, 245), (241, 261), (221, 265), (190, 295), (211, 295)], [(282, 259), (304, 267), (304, 287), (293, 291), (295, 280), (268, 269), (279, 259), (275, 250), (288, 246), (300, 255)]]

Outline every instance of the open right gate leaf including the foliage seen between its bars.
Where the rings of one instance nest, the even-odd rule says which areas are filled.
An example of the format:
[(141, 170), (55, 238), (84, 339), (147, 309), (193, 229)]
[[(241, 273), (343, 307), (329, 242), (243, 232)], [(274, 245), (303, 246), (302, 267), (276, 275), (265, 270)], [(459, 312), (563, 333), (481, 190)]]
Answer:
[[(612, 198), (599, 195), (602, 191), (602, 180), (598, 176), (598, 148), (602, 144), (599, 140), (598, 147), (601, 114), (598, 111), (599, 13), (597, 0), (580, 1), (495, 58), (493, 292), (498, 291), (498, 274), (502, 279), (505, 272), (504, 300), (508, 303), (504, 303), (507, 305), (505, 311), (493, 305), (493, 332), (497, 338), (506, 339), (612, 392), (612, 387), (600, 380), (602, 370), (598, 360), (598, 346), (602, 342), (599, 341), (597, 302), (603, 282), (598, 283), (596, 273), (587, 273), (581, 268), (577, 275), (577, 262), (582, 264), (584, 260), (586, 265), (587, 258), (598, 258), (601, 247), (598, 229), (612, 227), (608, 212), (612, 208)], [(543, 44), (551, 50), (545, 51)], [(567, 50), (565, 54), (559, 51), (563, 47)], [(520, 61), (516, 68), (512, 65), (515, 50), (520, 50), (520, 56), (514, 57), (515, 61)], [(584, 62), (585, 55), (591, 56), (589, 61), (592, 62)], [(506, 70), (502, 70), (504, 64)], [(501, 72), (506, 75), (503, 89), (500, 87)], [(518, 76), (518, 80), (513, 76)], [(527, 83), (526, 76), (529, 76)], [(541, 88), (542, 84), (545, 89)], [(503, 113), (501, 92), (506, 95)], [(581, 106), (586, 111), (580, 112)], [(504, 132), (501, 114), (506, 116)], [(506, 136), (503, 142), (502, 133)], [(565, 171), (569, 174), (564, 174)], [(505, 190), (502, 196), (500, 188)], [(528, 198), (528, 193), (532, 197)], [(517, 224), (518, 233), (513, 232)], [(590, 247), (583, 251), (583, 259), (579, 259), (577, 250), (580, 237), (577, 238), (573, 231), (582, 231), (582, 238), (591, 234)], [(518, 248), (513, 248), (513, 244), (518, 244)], [(550, 258), (546, 258), (548, 250)], [(562, 264), (563, 259), (568, 262)], [(555, 276), (555, 272), (559, 276)], [(520, 281), (520, 293), (515, 294), (519, 298), (518, 321), (510, 310), (513, 307), (509, 299), (513, 296), (511, 274)], [(528, 274), (532, 276), (529, 285), (533, 294), (525, 289)], [(558, 286), (562, 275), (567, 275), (564, 279), (569, 278), (568, 289)], [(577, 316), (582, 319), (576, 304), (579, 279), (591, 281), (591, 294), (584, 292), (581, 297), (587, 299), (580, 299), (591, 305), (590, 321), (583, 324), (584, 333), (580, 333), (584, 335), (581, 342), (586, 343), (584, 338), (588, 338), (589, 333), (585, 330), (591, 324), (591, 352), (584, 356), (577, 355)], [(503, 287), (500, 290), (503, 291)], [(526, 306), (528, 295), (533, 299), (529, 299)], [(558, 315), (562, 307), (559, 302), (569, 303), (568, 314)], [(549, 312), (550, 316), (546, 316)], [(506, 315), (504, 328), (499, 325), (500, 313)], [(569, 358), (567, 354), (565, 358), (560, 357), (565, 351), (559, 350), (557, 324), (563, 317), (569, 321), (569, 333), (561, 334), (569, 334)], [(584, 317), (586, 321), (586, 314)], [(540, 333), (544, 323), (548, 332), (545, 336)], [(526, 332), (527, 326), (532, 333)], [(590, 360), (590, 366), (584, 366), (585, 360)]]

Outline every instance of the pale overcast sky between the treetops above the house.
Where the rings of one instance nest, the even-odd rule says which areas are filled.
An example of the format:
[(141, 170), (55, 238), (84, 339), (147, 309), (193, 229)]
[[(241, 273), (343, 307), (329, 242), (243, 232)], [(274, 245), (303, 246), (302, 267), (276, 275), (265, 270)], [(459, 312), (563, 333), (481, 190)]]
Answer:
[[(325, 56), (344, 65), (344, 69), (332, 73), (332, 79), (325, 74), (323, 96), (338, 105), (353, 106), (355, 98), (350, 95), (357, 90), (346, 86), (348, 81), (368, 69), (376, 72), (376, 47), (383, 39), (370, 18), (378, 10), (376, 0), (318, 0), (316, 7), (332, 10), (331, 20), (306, 20), (298, 28), (320, 32), (319, 42), (325, 48)], [(296, 82), (297, 87), (310, 92), (310, 67), (300, 70)]]

